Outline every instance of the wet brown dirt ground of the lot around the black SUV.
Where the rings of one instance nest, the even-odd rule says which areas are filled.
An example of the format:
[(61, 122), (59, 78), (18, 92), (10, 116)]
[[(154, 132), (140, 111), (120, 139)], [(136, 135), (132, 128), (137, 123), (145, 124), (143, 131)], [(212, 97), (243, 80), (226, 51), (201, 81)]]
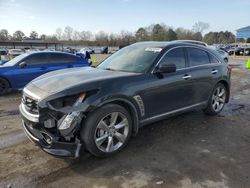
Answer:
[(250, 71), (233, 69), (231, 92), (218, 116), (195, 111), (160, 121), (112, 158), (77, 160), (31, 143), (18, 115), (21, 94), (0, 97), (0, 187), (250, 187)]

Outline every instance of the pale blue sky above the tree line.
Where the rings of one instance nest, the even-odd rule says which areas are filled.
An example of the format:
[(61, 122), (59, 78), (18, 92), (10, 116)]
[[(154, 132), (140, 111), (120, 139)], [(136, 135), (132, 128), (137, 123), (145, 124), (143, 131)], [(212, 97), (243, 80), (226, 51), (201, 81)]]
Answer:
[(26, 35), (54, 34), (70, 26), (78, 31), (135, 32), (139, 27), (164, 23), (192, 29), (207, 22), (205, 31), (235, 33), (250, 25), (250, 0), (0, 0), (0, 29)]

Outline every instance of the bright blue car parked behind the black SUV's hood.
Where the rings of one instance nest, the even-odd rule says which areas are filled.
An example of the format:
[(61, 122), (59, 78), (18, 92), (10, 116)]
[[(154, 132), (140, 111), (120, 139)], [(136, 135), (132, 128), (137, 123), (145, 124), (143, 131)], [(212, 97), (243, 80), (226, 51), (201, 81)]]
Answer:
[(88, 66), (87, 60), (63, 52), (32, 52), (0, 65), (0, 95), (22, 89), (36, 77), (50, 71)]

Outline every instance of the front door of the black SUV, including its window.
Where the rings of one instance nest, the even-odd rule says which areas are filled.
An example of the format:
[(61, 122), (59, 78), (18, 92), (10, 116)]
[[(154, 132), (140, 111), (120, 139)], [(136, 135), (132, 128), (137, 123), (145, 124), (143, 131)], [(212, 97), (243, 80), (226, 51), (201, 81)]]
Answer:
[(183, 48), (169, 50), (160, 63), (175, 64), (176, 72), (149, 75), (147, 87), (141, 92), (145, 104), (145, 118), (172, 112), (193, 104), (192, 77), (186, 71)]

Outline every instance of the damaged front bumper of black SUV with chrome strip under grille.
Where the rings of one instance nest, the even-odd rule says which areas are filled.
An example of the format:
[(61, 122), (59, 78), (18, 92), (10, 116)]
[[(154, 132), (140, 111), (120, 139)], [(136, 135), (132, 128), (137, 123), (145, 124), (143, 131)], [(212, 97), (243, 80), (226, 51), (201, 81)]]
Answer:
[(27, 112), (23, 103), (19, 106), (19, 110), (25, 134), (43, 151), (57, 157), (79, 157), (80, 150), (82, 149), (79, 138), (75, 136), (73, 139), (66, 141), (60, 135), (54, 134), (53, 131), (45, 128), (44, 122), (41, 121), (43, 118)]

